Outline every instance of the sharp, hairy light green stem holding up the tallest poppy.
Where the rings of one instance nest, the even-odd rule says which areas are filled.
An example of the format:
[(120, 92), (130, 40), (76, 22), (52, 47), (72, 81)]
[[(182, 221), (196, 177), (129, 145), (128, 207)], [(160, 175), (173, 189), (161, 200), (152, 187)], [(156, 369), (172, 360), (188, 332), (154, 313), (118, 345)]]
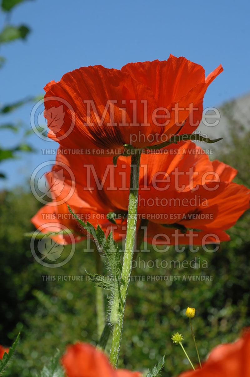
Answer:
[(127, 234), (125, 240), (125, 250), (123, 256), (123, 265), (121, 273), (120, 297), (119, 297), (119, 316), (114, 324), (112, 343), (110, 350), (110, 363), (113, 368), (117, 368), (120, 343), (122, 339), (123, 318), (125, 311), (126, 298), (128, 293), (128, 285), (130, 283), (130, 275), (133, 261), (134, 244), (136, 238), (136, 222), (137, 222), (137, 204), (138, 204), (138, 185), (140, 170), (140, 152), (135, 151), (131, 155), (131, 172), (130, 172), (130, 194), (128, 202), (128, 221)]

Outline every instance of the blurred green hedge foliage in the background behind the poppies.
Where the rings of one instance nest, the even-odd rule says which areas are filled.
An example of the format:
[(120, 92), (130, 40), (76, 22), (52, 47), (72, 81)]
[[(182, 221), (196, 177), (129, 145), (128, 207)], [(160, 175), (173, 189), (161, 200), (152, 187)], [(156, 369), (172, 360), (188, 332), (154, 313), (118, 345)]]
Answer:
[[(231, 126), (233, 130), (235, 124)], [(220, 159), (239, 170), (236, 182), (250, 186), (250, 152), (246, 146), (249, 133), (233, 135), (230, 144), (222, 144)], [(223, 143), (223, 142), (222, 142)], [(225, 150), (226, 152), (223, 152)], [(77, 245), (75, 255), (61, 268), (48, 269), (38, 264), (30, 252), (29, 239), (23, 234), (33, 230), (29, 219), (39, 204), (29, 192), (16, 190), (0, 196), (0, 249), (2, 263), (0, 282), (1, 339), (5, 346), (21, 329), (21, 342), (16, 358), (6, 375), (37, 375), (43, 364), (59, 348), (76, 340), (96, 344), (98, 340), (95, 313), (95, 285), (89, 281), (62, 281), (57, 276), (95, 273), (93, 253), (84, 253), (84, 244)], [(192, 319), (201, 359), (215, 345), (235, 340), (244, 326), (250, 325), (250, 211), (229, 231), (231, 241), (224, 242), (216, 253), (203, 250), (176, 253), (140, 253), (141, 260), (191, 261), (196, 257), (207, 261), (207, 268), (134, 268), (133, 275), (144, 275), (146, 281), (130, 284), (120, 353), (120, 366), (145, 371), (152, 368), (166, 353), (163, 375), (178, 375), (189, 369), (179, 346), (171, 335), (179, 332), (184, 346), (197, 362), (194, 344), (184, 311), (196, 308)], [(138, 257), (137, 257), (138, 258)], [(202, 263), (201, 263), (202, 264)], [(152, 262), (149, 263), (149, 266)], [(212, 281), (147, 281), (148, 275), (212, 275)], [(43, 281), (43, 275), (56, 276)], [(107, 302), (106, 302), (107, 304)], [(108, 350), (108, 347), (107, 347)]]

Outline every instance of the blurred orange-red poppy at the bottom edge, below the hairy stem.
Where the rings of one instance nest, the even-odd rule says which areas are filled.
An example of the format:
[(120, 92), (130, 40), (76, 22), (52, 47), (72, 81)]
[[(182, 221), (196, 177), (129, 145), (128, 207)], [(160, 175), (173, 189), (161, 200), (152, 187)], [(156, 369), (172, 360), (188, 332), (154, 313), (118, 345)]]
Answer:
[(87, 343), (69, 346), (62, 365), (67, 377), (141, 377), (139, 372), (114, 370), (105, 354)]

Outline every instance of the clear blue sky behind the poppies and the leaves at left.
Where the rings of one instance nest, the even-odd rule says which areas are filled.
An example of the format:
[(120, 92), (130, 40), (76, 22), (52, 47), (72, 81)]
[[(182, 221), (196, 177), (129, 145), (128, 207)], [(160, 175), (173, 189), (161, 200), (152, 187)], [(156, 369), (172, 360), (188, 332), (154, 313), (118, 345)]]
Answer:
[[(208, 88), (204, 106), (216, 106), (250, 92), (250, 3), (246, 1), (32, 0), (16, 6), (11, 23), (32, 29), (26, 41), (1, 47), (7, 58), (0, 70), (2, 104), (43, 94), (44, 85), (70, 70), (102, 64), (120, 68), (128, 62), (165, 60), (169, 54), (201, 64), (209, 74), (224, 72)], [(0, 15), (1, 26), (5, 14)], [(28, 104), (1, 123), (23, 120), (29, 126)], [(2, 147), (15, 146), (21, 134), (1, 132)], [(216, 136), (216, 135), (215, 135)], [(6, 161), (0, 170), (8, 179), (1, 188), (23, 185), (41, 162), (41, 149), (57, 144), (31, 135), (36, 153)], [(48, 145), (49, 144), (49, 145)]]

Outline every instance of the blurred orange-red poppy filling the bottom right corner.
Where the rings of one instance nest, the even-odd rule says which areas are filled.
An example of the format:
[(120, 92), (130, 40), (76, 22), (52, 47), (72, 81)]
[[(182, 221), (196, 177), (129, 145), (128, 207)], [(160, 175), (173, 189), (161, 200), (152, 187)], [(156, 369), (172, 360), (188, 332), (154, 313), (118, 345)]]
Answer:
[(234, 343), (221, 344), (209, 354), (202, 369), (182, 373), (179, 377), (249, 377), (250, 331)]

